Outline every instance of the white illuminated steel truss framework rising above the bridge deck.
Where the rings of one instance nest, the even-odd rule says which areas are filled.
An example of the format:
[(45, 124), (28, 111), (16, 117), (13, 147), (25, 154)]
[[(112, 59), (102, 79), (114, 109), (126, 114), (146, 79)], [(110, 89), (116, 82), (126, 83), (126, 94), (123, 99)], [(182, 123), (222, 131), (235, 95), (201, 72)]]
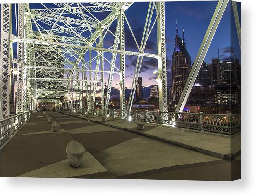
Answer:
[[(98, 92), (101, 94), (101, 109), (108, 110), (114, 75), (119, 75), (120, 78), (120, 109), (131, 110), (143, 57), (156, 58), (158, 61), (159, 109), (167, 112), (165, 3), (149, 2), (140, 44), (125, 15), (132, 4), (133, 2), (51, 3), (46, 6), (41, 3), (40, 9), (33, 9), (27, 3), (1, 4), (1, 119), (10, 116), (14, 65), (17, 65), (17, 82), (14, 80), (16, 114), (35, 109), (39, 102), (55, 102), (55, 107), (68, 109), (94, 109)], [(210, 23), (214, 28), (206, 32), (207, 37), (212, 39), (226, 4), (225, 1), (218, 3)], [(236, 6), (235, 9), (237, 11)], [(12, 19), (12, 12), (15, 12), (15, 20)], [(238, 25), (239, 18), (236, 20)], [(15, 21), (16, 32), (12, 31), (12, 21)], [(134, 41), (137, 51), (125, 49), (125, 24), (134, 39), (129, 41)], [(111, 25), (115, 26), (114, 32)], [(157, 29), (158, 52), (145, 53), (146, 43), (154, 26)], [(110, 47), (105, 46), (106, 36), (113, 38)], [(204, 39), (203, 43), (205, 41), (208, 40)], [(17, 59), (14, 59), (12, 50), (15, 43)], [(201, 50), (206, 53), (208, 47), (200, 48), (200, 54)], [(137, 56), (128, 104), (125, 101), (126, 55)], [(194, 63), (197, 69), (203, 58), (203, 55), (197, 56)], [(197, 75), (198, 72), (196, 70), (193, 73)], [(106, 79), (105, 88), (106, 75), (108, 80)], [(190, 93), (190, 83), (186, 86), (188, 90), (184, 90), (182, 94), (182, 104)], [(178, 106), (181, 108), (182, 104), (179, 103)]]

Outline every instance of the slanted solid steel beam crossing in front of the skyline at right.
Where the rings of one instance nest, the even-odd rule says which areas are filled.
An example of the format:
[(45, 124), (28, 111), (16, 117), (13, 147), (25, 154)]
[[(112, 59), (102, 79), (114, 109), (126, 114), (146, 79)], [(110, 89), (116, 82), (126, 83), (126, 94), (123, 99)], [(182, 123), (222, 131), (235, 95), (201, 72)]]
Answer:
[(179, 100), (179, 103), (177, 104), (177, 107), (176, 107), (176, 112), (182, 112), (183, 111), (183, 108), (187, 102), (187, 99), (189, 97), (189, 94), (191, 92), (191, 89), (193, 87), (193, 84), (196, 80), (196, 77), (198, 75), (198, 72), (201, 68), (201, 65), (203, 63), (203, 60), (204, 60), (204, 57), (208, 51), (208, 48), (211, 44), (211, 41), (213, 39), (213, 36), (216, 32), (216, 29), (220, 23), (220, 20), (222, 18), (222, 15), (227, 7), (227, 4), (228, 4), (229, 1), (219, 1), (218, 2), (218, 5), (215, 9), (215, 12), (213, 13), (213, 17), (211, 19), (211, 22), (208, 26), (208, 29), (205, 33), (205, 36), (204, 36), (204, 39), (203, 39), (203, 42), (199, 48), (199, 51), (198, 51), (198, 54), (196, 55), (196, 59), (195, 59), (195, 62), (192, 66), (192, 69), (189, 73), (189, 77), (187, 78), (187, 82), (186, 82), (186, 85), (182, 91), (182, 94), (180, 96), (180, 100)]

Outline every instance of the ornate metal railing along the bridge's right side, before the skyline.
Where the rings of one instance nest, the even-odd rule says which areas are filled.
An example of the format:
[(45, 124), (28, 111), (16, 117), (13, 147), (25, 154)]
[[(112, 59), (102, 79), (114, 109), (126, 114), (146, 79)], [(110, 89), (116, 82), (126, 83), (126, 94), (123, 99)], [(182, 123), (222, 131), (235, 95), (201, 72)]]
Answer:
[(112, 118), (139, 120), (168, 126), (189, 128), (198, 131), (209, 131), (232, 135), (241, 131), (241, 114), (196, 114), (157, 111), (127, 111), (101, 109), (66, 109), (76, 113), (86, 113)]

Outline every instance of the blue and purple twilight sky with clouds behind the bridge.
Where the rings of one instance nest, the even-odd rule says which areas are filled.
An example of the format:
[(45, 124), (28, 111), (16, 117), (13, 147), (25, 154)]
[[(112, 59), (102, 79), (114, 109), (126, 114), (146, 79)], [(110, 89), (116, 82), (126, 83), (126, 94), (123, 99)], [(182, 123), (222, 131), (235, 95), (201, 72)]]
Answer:
[[(185, 31), (185, 42), (186, 48), (191, 56), (191, 63), (194, 62), (196, 58), (198, 49), (203, 40), (204, 34), (208, 25), (210, 23), (213, 12), (216, 8), (217, 1), (176, 1), (176, 2), (165, 2), (165, 26), (166, 26), (166, 48), (167, 48), (167, 85), (171, 85), (171, 66), (172, 66), (172, 52), (175, 45), (175, 23), (178, 21), (179, 36), (182, 37), (182, 29)], [(86, 3), (83, 3), (86, 5)], [(50, 7), (56, 7), (51, 3), (45, 3), (45, 5)], [(237, 3), (239, 14), (240, 14), (240, 3)], [(72, 5), (76, 6), (76, 4)], [(149, 2), (135, 2), (129, 9), (125, 11), (127, 19), (131, 25), (132, 31), (137, 39), (138, 44), (141, 43), (141, 37), (144, 29), (144, 22), (146, 20), (146, 14), (148, 11)], [(30, 4), (32, 9), (43, 8), (40, 4)], [(13, 12), (15, 13), (15, 12)], [(104, 19), (109, 12), (93, 13), (95, 17), (102, 20)], [(152, 22), (155, 20), (156, 12), (154, 12), (152, 17)], [(15, 21), (15, 15), (13, 14), (13, 20)], [(115, 26), (117, 20), (115, 20), (110, 26), (110, 31), (115, 33)], [(45, 29), (51, 27), (42, 24)], [(36, 27), (33, 25), (33, 30), (36, 30)], [(13, 32), (15, 34), (15, 25), (13, 25)], [(231, 33), (232, 32), (232, 33)], [(88, 32), (89, 33), (89, 32)], [(85, 36), (89, 34), (84, 34)], [(156, 33), (156, 24), (153, 27), (151, 35), (149, 36), (148, 42), (146, 44), (145, 52), (146, 53), (157, 53), (157, 33)], [(108, 33), (104, 39), (104, 48), (109, 48), (113, 45), (113, 36)], [(232, 6), (229, 2), (227, 8), (223, 14), (222, 20), (218, 26), (218, 29), (213, 37), (213, 41), (210, 45), (208, 53), (204, 61), (210, 63), (211, 59), (218, 58), (218, 48), (220, 51), (220, 60), (234, 60), (235, 56), (240, 60), (241, 52), (237, 39), (237, 31), (234, 22), (234, 14), (232, 12)], [(125, 22), (125, 50), (128, 51), (138, 51), (137, 46), (134, 42), (132, 34), (129, 30), (127, 23)], [(15, 56), (14, 49), (14, 56)], [(111, 61), (111, 54), (105, 53), (105, 57), (108, 61)], [(92, 56), (96, 56), (96, 52), (92, 52)], [(89, 60), (89, 55), (85, 55), (86, 60)], [(125, 56), (125, 66), (126, 66), (126, 84), (125, 87), (128, 89), (131, 88), (132, 77), (134, 75), (134, 68), (136, 66), (137, 57), (136, 56)], [(115, 66), (120, 68), (119, 55), (117, 55), (117, 60)], [(95, 68), (96, 61), (93, 61), (92, 66)], [(105, 70), (110, 69), (110, 64), (105, 60)], [(148, 87), (151, 85), (157, 84), (156, 75), (153, 75), (152, 72), (157, 70), (157, 62), (153, 58), (143, 58), (143, 63), (141, 66), (140, 76), (143, 78), (143, 86)], [(100, 74), (99, 74), (100, 75)], [(89, 77), (89, 73), (88, 73)], [(94, 78), (93, 78), (94, 79)], [(116, 85), (120, 80), (119, 75), (114, 75), (113, 78), (113, 93), (112, 97), (116, 97), (119, 94), (117, 88), (119, 85)], [(108, 74), (105, 73), (105, 80), (108, 82)], [(148, 89), (148, 88), (147, 88)], [(145, 88), (146, 90), (146, 88)], [(128, 90), (129, 91), (129, 90)], [(128, 93), (128, 92), (127, 92)], [(144, 92), (143, 92), (144, 93)], [(127, 94), (128, 95), (128, 94)], [(126, 95), (126, 96), (127, 96)], [(143, 94), (143, 97), (148, 97)]]

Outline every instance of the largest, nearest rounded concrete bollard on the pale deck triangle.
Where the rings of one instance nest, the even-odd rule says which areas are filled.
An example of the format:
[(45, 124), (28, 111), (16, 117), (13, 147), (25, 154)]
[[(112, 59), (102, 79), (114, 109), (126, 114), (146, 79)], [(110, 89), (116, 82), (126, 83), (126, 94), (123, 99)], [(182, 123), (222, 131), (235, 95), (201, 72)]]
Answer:
[(67, 144), (66, 152), (67, 158), (69, 159), (69, 165), (79, 167), (85, 152), (84, 146), (81, 143), (72, 140)]

